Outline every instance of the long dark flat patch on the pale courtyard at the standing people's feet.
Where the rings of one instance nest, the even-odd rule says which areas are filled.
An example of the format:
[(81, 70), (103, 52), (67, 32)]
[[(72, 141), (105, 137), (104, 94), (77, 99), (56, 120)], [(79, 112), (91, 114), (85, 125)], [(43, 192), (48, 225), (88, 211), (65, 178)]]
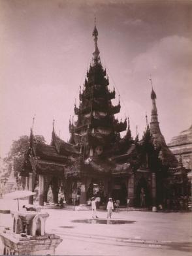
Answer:
[(87, 223), (87, 224), (132, 224), (135, 221), (123, 221), (118, 219), (74, 219), (74, 223)]

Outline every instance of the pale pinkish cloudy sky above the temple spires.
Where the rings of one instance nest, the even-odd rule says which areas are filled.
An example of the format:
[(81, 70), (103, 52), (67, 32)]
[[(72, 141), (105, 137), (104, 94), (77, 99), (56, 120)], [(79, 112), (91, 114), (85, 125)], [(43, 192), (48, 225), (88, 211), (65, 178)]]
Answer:
[[(109, 89), (140, 138), (150, 122), (152, 86), (161, 132), (172, 136), (192, 123), (192, 1), (0, 1), (0, 156), (12, 140), (34, 133), (69, 139), (69, 118), (83, 87), (99, 32)], [(118, 103), (118, 97), (113, 104)]]

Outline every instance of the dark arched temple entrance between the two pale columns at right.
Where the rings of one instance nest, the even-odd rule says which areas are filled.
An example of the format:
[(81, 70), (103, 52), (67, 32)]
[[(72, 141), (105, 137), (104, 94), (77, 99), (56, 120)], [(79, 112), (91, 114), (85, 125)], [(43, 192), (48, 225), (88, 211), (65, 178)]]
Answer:
[(136, 186), (136, 202), (135, 205), (137, 207), (148, 207), (150, 206), (150, 189), (148, 187), (148, 182), (142, 176), (140, 180), (138, 180), (138, 184)]

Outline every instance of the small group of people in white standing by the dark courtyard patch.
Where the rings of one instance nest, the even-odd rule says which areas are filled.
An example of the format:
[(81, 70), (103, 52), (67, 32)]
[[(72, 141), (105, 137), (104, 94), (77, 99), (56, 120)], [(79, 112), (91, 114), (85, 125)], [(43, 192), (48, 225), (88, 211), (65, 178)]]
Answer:
[[(111, 218), (112, 216), (112, 211), (114, 210), (114, 208), (116, 210), (118, 210), (120, 205), (120, 200), (116, 200), (116, 202), (113, 203), (112, 198), (110, 197), (108, 199), (108, 203), (106, 206), (106, 210), (107, 210), (107, 218)], [(98, 218), (97, 216), (97, 200), (95, 197), (91, 198), (91, 210), (92, 210), (92, 217), (94, 218)]]

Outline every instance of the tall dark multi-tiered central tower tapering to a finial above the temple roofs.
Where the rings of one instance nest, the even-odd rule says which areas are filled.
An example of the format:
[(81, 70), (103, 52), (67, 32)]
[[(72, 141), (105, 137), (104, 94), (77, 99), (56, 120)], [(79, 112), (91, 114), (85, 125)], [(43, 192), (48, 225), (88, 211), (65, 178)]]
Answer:
[(79, 95), (80, 105), (74, 106), (77, 121), (70, 123), (71, 142), (81, 145), (84, 157), (107, 156), (121, 131), (127, 128), (127, 121), (118, 121), (114, 114), (120, 112), (120, 99), (112, 105), (116, 91), (108, 89), (109, 81), (103, 68), (97, 46), (98, 31), (93, 30), (95, 52), (86, 75), (84, 89)]

